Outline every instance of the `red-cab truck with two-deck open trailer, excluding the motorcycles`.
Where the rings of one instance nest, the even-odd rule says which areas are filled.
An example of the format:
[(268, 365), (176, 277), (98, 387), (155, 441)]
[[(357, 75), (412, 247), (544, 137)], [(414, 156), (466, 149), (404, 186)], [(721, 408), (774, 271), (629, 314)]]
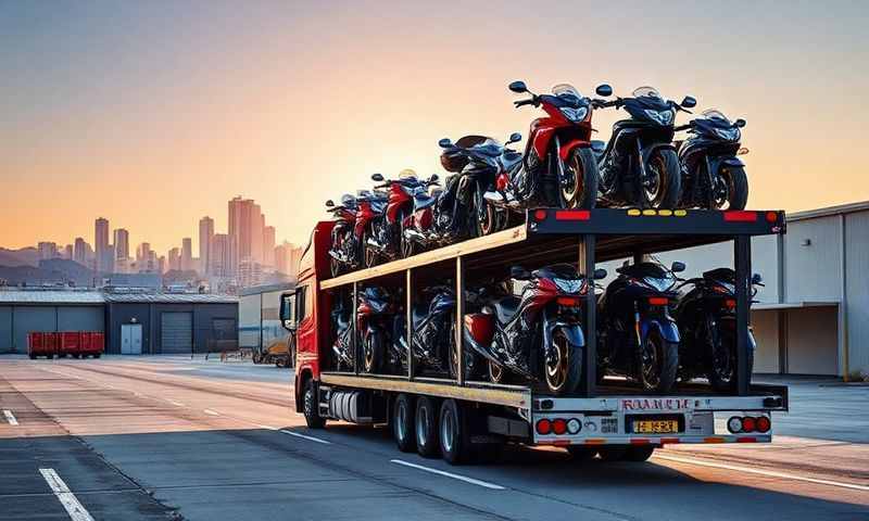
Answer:
[[(751, 239), (784, 233), (780, 211), (692, 209), (529, 209), (524, 225), (410, 258), (330, 278), (328, 249), (332, 223), (315, 227), (305, 250), (297, 289), (281, 300), (281, 319), (295, 335), (295, 410), (308, 427), (326, 420), (391, 425), (399, 448), (453, 463), (506, 441), (564, 446), (604, 459), (643, 460), (656, 447), (673, 443), (768, 443), (772, 411), (788, 410), (788, 387), (752, 384), (747, 367), (751, 305)], [(512, 265), (572, 263), (590, 276), (595, 263), (732, 241), (735, 271), (736, 385), (716, 393), (702, 383), (679, 383), (668, 395), (644, 394), (626, 383), (596, 378), (596, 297), (583, 304), (581, 389), (552, 396), (534, 385), (420, 376), (408, 353), (407, 373), (370, 374), (361, 370), (361, 342), (354, 331), (356, 367), (329, 370), (331, 306), (337, 292), (356, 294), (369, 283), (403, 287), (411, 335), (411, 303), (420, 283), (450, 279), (455, 284), (456, 323), (463, 323), (465, 288), (483, 274), (509, 272)], [(356, 320), (351, 320), (353, 328)], [(464, 361), (462, 328), (456, 329)], [(407, 342), (411, 345), (411, 342)], [(730, 428), (728, 428), (730, 423)], [(735, 429), (733, 428), (735, 425)], [(743, 428), (740, 428), (743, 425)]]

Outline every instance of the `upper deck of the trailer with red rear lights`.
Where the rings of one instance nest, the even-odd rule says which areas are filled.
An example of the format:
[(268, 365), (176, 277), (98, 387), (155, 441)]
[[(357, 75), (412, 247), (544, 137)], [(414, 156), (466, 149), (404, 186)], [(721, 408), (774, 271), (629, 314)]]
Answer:
[(640, 211), (637, 208), (528, 211), (526, 223), (428, 252), (323, 280), (322, 289), (399, 274), (463, 257), (469, 269), (540, 260), (574, 263), (580, 243), (594, 237), (597, 262), (727, 241), (738, 236), (783, 233), (781, 211)]

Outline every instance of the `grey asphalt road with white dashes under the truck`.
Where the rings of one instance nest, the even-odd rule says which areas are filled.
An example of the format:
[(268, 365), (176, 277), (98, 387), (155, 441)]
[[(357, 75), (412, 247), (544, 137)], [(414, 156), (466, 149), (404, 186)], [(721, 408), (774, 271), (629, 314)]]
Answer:
[(794, 385), (771, 445), (683, 445), (645, 463), (511, 447), (451, 467), (383, 430), (305, 429), (290, 376), (0, 357), (0, 519), (869, 520), (869, 387)]

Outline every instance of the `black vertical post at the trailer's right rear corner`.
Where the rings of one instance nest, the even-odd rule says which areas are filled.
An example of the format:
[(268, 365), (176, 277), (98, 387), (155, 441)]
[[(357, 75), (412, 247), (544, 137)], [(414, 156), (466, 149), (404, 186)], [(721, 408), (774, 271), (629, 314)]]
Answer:
[(736, 394), (748, 394), (752, 374), (748, 369), (748, 307), (752, 298), (752, 238), (736, 236), (733, 241), (736, 289)]

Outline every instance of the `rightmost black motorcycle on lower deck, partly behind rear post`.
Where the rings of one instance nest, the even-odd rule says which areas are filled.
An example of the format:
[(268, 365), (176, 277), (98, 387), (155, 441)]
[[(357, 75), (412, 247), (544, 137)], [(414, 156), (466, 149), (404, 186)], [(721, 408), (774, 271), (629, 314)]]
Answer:
[[(682, 333), (679, 346), (680, 378), (689, 381), (706, 377), (713, 389), (736, 389), (736, 290), (735, 274), (730, 268), (705, 271), (689, 279), (675, 315)], [(759, 275), (752, 277), (752, 294), (764, 285)], [(754, 367), (757, 344), (748, 329), (748, 374)]]

